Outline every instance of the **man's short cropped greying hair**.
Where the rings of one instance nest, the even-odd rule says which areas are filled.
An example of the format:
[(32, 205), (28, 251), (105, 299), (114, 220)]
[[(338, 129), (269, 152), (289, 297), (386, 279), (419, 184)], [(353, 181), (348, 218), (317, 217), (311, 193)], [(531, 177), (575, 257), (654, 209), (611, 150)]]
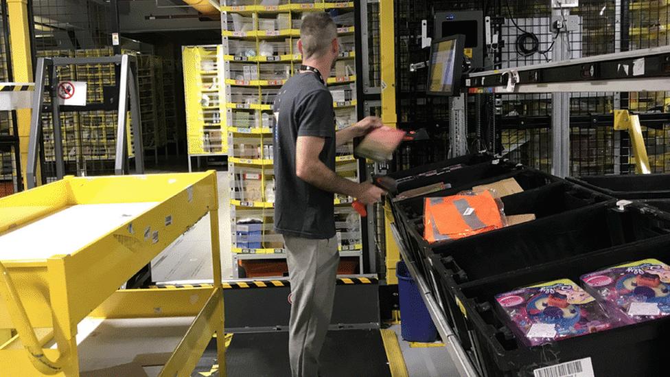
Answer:
[(320, 58), (325, 55), (335, 38), (337, 38), (337, 27), (327, 13), (314, 12), (303, 16), (300, 27), (303, 59)]

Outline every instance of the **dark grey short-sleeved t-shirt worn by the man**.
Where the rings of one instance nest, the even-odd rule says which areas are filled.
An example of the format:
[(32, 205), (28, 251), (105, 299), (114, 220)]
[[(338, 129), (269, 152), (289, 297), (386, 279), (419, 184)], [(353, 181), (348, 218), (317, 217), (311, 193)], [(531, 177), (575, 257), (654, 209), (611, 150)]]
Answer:
[(299, 73), (279, 90), (273, 112), (275, 230), (287, 236), (326, 239), (335, 236), (334, 194), (299, 179), (295, 174), (299, 136), (325, 139), (319, 159), (335, 170), (333, 98), (312, 72)]

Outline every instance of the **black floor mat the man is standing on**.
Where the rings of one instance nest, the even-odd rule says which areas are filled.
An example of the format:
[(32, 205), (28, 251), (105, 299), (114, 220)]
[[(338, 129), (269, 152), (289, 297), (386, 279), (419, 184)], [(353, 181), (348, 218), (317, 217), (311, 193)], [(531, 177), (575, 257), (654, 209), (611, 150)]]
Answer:
[[(193, 376), (218, 376), (210, 343)], [(234, 334), (226, 353), (228, 377), (290, 377), (288, 332)], [(204, 372), (204, 373), (203, 373)], [(326, 336), (321, 352), (321, 376), (391, 377), (379, 330), (338, 330)]]

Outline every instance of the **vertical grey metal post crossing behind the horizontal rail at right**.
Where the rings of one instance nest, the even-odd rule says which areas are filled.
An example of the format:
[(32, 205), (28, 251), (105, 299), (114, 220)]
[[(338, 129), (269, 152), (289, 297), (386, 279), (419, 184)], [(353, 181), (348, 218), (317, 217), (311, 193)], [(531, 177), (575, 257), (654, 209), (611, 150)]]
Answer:
[[(570, 11), (566, 9), (552, 10), (552, 21), (562, 20)], [(565, 27), (565, 26), (564, 26)], [(559, 30), (559, 35), (553, 47), (553, 61), (568, 59), (568, 41), (564, 30)], [(553, 93), (551, 96), (551, 122), (553, 140), (553, 166), (552, 172), (557, 176), (570, 175), (570, 94)]]

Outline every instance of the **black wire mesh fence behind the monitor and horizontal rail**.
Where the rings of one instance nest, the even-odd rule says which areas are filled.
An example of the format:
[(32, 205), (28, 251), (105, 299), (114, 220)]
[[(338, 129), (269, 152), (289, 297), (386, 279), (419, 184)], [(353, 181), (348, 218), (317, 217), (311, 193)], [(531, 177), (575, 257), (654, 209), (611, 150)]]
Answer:
[[(427, 71), (411, 72), (411, 62), (427, 60), (428, 49), (420, 46), (421, 20), (428, 23), (432, 36), (433, 16), (440, 11), (483, 10), (494, 20), (494, 32), (500, 34), (498, 49), (487, 48), (493, 63), (484, 69), (505, 69), (540, 64), (554, 58), (557, 38), (568, 46), (568, 58), (598, 56), (614, 52), (658, 47), (670, 41), (670, 3), (665, 0), (582, 0), (578, 8), (564, 11), (566, 21), (576, 17), (576, 27), (568, 33), (552, 30), (549, 1), (397, 1), (397, 87), (398, 120), (401, 126), (417, 124), (446, 130), (448, 107), (435, 106), (435, 98), (425, 91)], [(496, 20), (502, 21), (496, 25)], [(497, 28), (496, 28), (497, 27)], [(540, 170), (551, 171), (551, 94), (505, 95), (496, 119), (498, 143), (494, 152)], [(470, 100), (472, 124), (473, 100)], [(612, 111), (629, 109), (641, 115), (662, 113), (660, 121), (643, 122), (649, 161), (653, 172), (670, 171), (670, 100), (667, 92), (651, 93), (570, 93), (570, 174), (629, 174), (634, 172), (634, 157), (627, 133), (613, 129)], [(443, 114), (437, 113), (443, 111)], [(644, 117), (643, 117), (644, 119)], [(662, 119), (667, 119), (664, 121)], [(469, 129), (472, 145), (472, 127)], [(435, 133), (436, 135), (440, 133)], [(448, 134), (443, 131), (445, 143)], [(431, 140), (430, 143), (435, 143)], [(426, 148), (428, 150), (428, 148)], [(472, 151), (472, 148), (470, 148)], [(424, 152), (424, 150), (420, 150)], [(413, 152), (415, 153), (415, 152)], [(410, 157), (402, 157), (410, 161)], [(415, 162), (439, 159), (438, 156)]]

